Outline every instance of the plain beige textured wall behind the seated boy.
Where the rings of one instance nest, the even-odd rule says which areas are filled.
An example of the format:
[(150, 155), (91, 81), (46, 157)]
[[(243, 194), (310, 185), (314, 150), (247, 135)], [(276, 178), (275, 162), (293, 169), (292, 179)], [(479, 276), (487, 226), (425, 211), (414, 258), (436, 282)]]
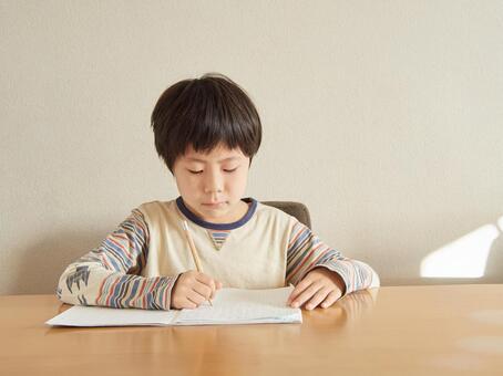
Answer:
[(384, 284), (449, 244), (503, 282), (503, 2), (3, 0), (0, 30), (0, 294), (175, 197), (150, 114), (209, 71), (263, 118), (248, 195), (307, 203)]

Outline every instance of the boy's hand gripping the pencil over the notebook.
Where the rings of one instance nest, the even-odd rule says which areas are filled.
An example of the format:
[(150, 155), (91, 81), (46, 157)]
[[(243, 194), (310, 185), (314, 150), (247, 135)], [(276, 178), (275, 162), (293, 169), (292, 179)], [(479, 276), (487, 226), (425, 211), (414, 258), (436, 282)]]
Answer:
[(222, 283), (196, 270), (182, 273), (171, 294), (171, 307), (175, 310), (196, 309), (202, 303), (215, 297)]

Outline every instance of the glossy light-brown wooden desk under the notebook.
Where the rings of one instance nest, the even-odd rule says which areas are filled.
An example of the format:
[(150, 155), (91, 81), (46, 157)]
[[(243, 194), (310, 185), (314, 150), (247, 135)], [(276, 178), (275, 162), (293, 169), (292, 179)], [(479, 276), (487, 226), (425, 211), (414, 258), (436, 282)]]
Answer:
[(0, 296), (0, 375), (503, 375), (503, 285), (373, 292), (302, 325), (120, 328), (51, 328), (54, 296)]

